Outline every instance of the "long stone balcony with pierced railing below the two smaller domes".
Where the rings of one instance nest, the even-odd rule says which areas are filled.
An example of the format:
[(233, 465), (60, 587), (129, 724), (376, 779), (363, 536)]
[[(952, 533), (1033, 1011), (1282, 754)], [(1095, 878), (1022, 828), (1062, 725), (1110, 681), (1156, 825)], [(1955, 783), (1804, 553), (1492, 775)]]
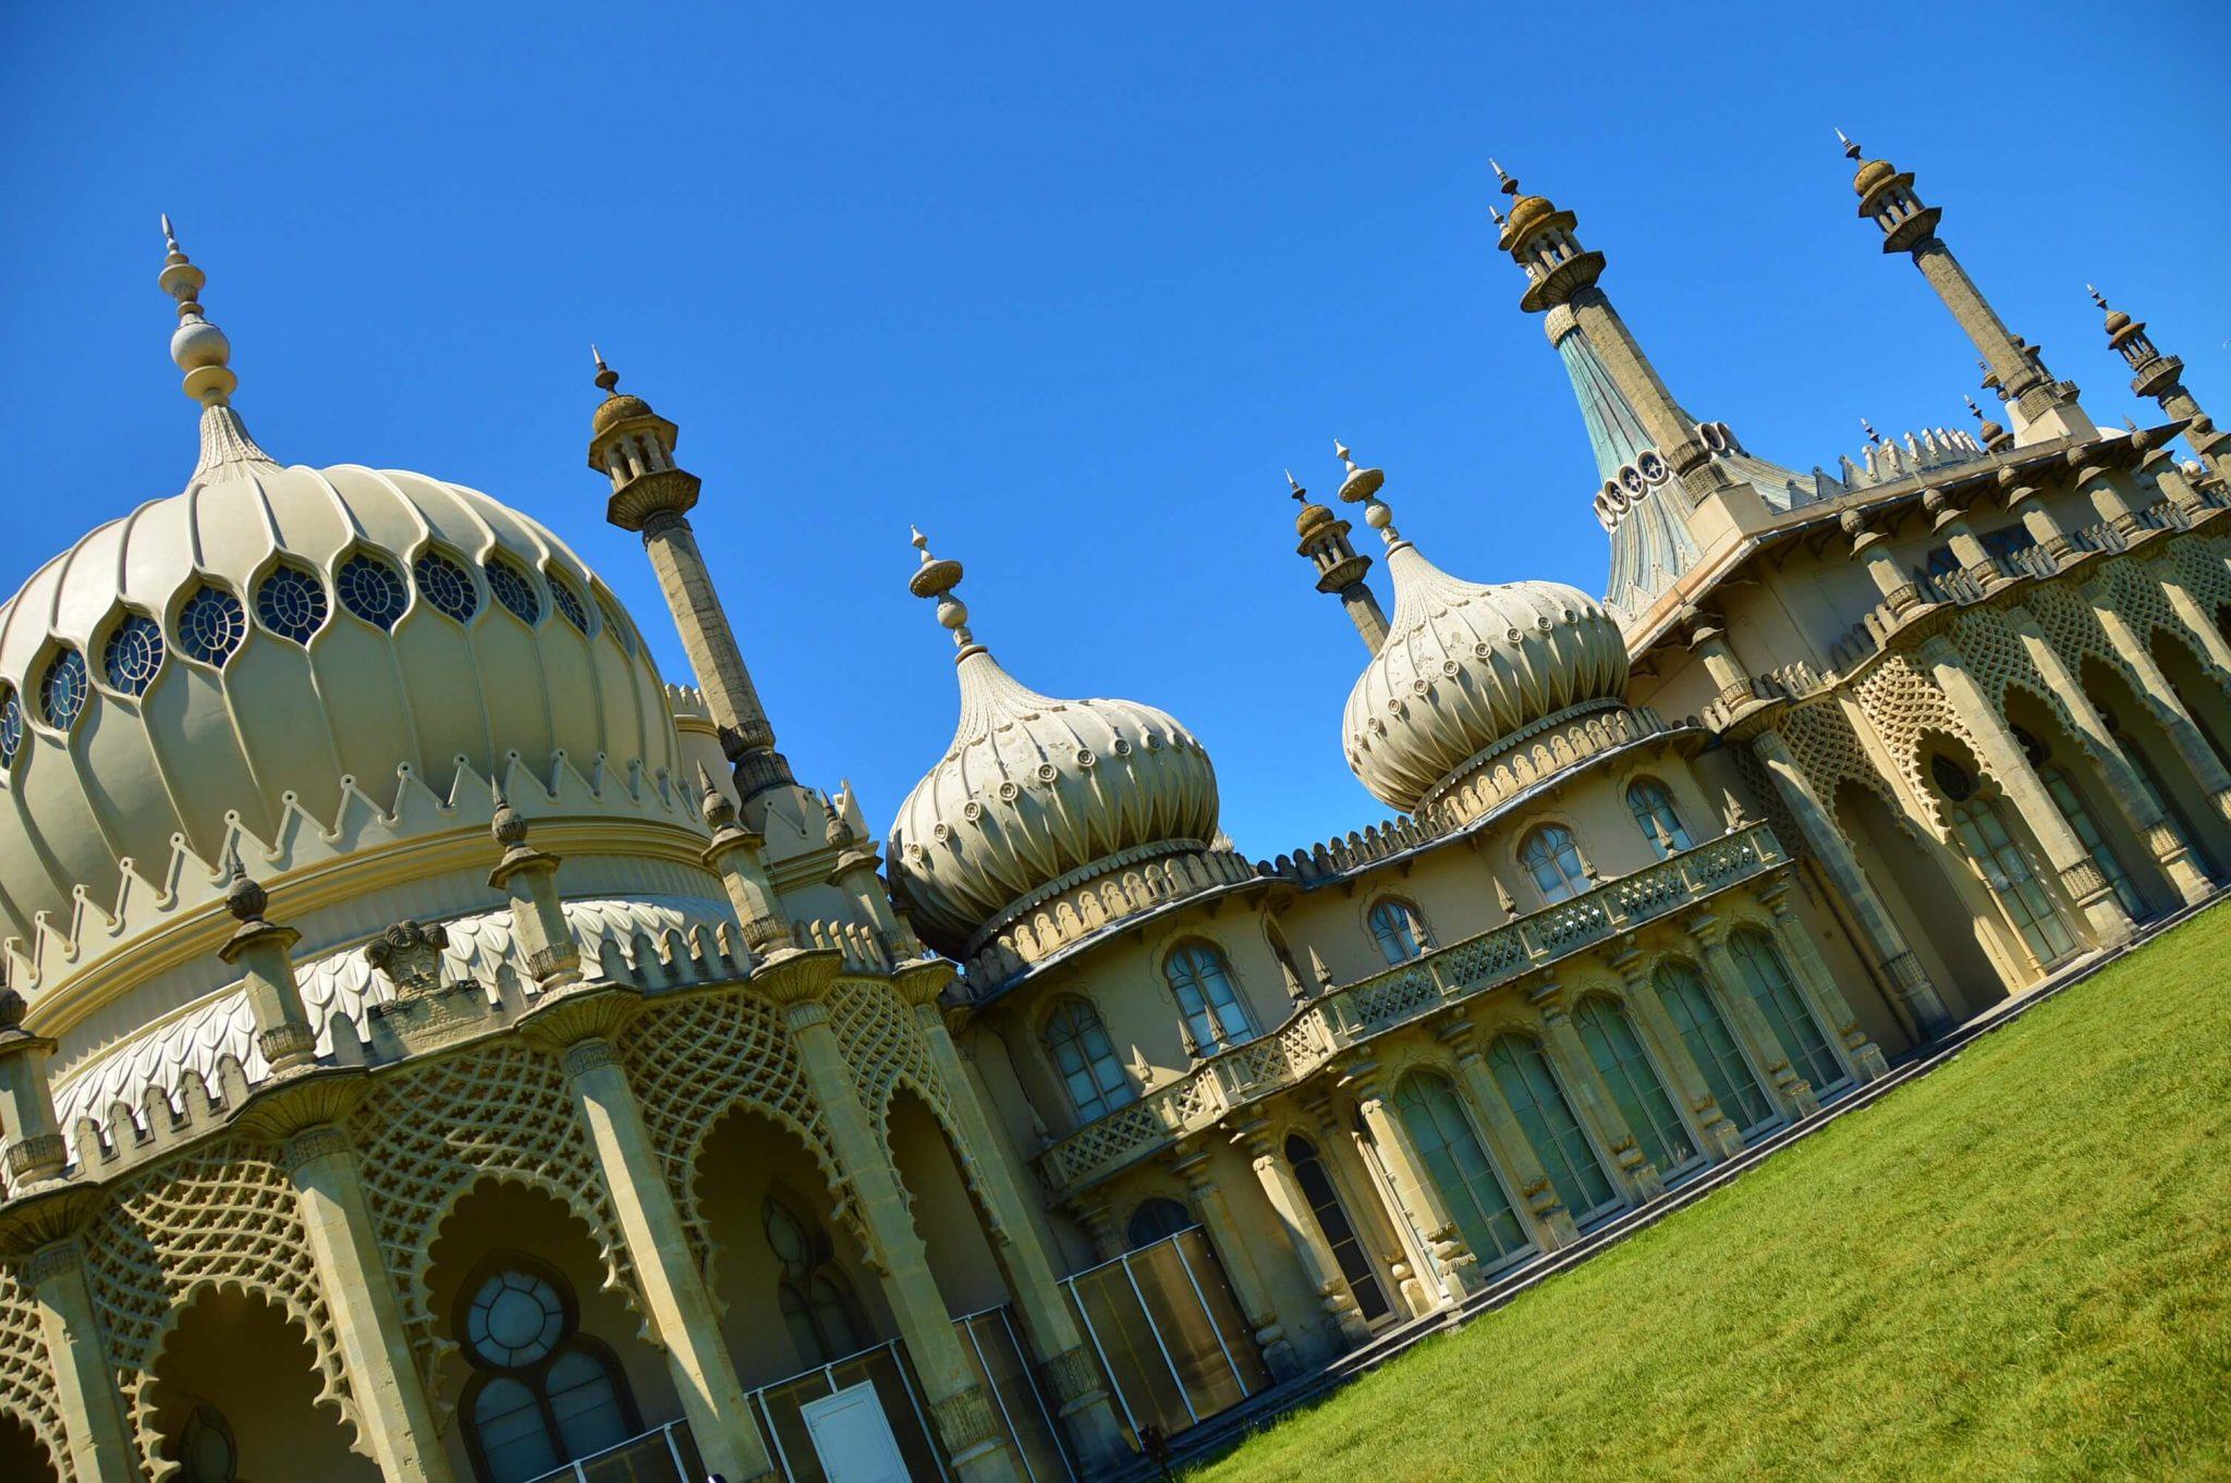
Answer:
[(1749, 823), (1655, 865), (1559, 901), (1499, 928), (1435, 948), (1354, 983), (1327, 988), (1278, 1026), (1196, 1064), (1189, 1073), (1037, 1155), (1055, 1198), (1214, 1126), (1249, 1102), (1301, 1084), (1325, 1062), (1388, 1030), (1475, 999), (1586, 952), (1620, 932), (1696, 905), (1780, 870), (1789, 861), (1774, 832)]

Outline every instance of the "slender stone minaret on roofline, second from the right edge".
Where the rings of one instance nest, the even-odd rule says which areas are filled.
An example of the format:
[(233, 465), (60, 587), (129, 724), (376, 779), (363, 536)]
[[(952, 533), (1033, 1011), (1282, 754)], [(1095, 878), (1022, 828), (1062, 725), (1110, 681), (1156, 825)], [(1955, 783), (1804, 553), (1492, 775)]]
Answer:
[(2099, 428), (2077, 406), (2075, 381), (2057, 381), (2046, 370), (2044, 352), (2006, 328), (1983, 290), (1952, 256), (1952, 248), (1937, 236), (1943, 210), (1923, 205), (1921, 196), (1914, 194), (1912, 172), (1901, 172), (1890, 161), (1865, 161), (1843, 129), (1836, 129), (1836, 138), (1843, 140), (1845, 158), (1858, 161), (1858, 174), (1852, 176), (1852, 190), (1858, 192), (1858, 214), (1872, 216), (1874, 225), (1883, 227), (1883, 252), (1914, 254), (1914, 268), (1974, 341), (1988, 372), (1986, 384), (1997, 381), (1999, 395), (2012, 413), (2015, 442), (2041, 444), (2053, 437), (2090, 442), (2099, 437)]

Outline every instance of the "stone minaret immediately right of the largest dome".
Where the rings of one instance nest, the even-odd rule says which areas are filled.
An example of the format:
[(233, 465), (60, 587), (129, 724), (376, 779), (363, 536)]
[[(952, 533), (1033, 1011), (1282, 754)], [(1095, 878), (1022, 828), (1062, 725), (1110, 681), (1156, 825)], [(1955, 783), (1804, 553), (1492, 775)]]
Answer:
[[(596, 346), (589, 346), (589, 355), (596, 355)], [(721, 727), (721, 747), (736, 769), (736, 794), (752, 798), (770, 787), (785, 787), (794, 783), (790, 763), (774, 749), (767, 709), (759, 702), (759, 687), (743, 665), (721, 593), (705, 569), (705, 553), (689, 529), (701, 482), (674, 462), (678, 428), (643, 397), (622, 395), (620, 372), (602, 355), (596, 355), (596, 384), (605, 388), (605, 399), (589, 421), (589, 468), (611, 477), (605, 520), (643, 533), (658, 589), (680, 629), (683, 653), (705, 689), (705, 705)]]

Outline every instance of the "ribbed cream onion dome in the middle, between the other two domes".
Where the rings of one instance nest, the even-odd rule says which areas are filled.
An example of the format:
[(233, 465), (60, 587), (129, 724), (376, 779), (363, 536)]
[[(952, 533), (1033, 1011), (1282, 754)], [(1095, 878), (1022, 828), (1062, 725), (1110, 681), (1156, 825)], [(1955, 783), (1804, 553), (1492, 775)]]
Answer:
[(1055, 700), (999, 667), (968, 631), (962, 564), (933, 558), (908, 582), (953, 629), (959, 727), (899, 805), (892, 885), (924, 941), (964, 957), (1033, 905), (1107, 872), (1216, 841), (1216, 769), (1167, 711), (1136, 700)]

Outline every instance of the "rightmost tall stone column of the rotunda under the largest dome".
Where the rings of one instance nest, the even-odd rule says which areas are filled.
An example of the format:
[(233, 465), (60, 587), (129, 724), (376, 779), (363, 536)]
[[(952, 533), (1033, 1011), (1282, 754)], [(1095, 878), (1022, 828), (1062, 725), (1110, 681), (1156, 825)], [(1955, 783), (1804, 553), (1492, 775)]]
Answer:
[(999, 1271), (1015, 1298), (1031, 1354), (1053, 1383), (1062, 1423), (1089, 1463), (1124, 1461), (1131, 1456), (1131, 1447), (1122, 1438), (1100, 1365), (1078, 1329), (1075, 1311), (1062, 1296), (1053, 1258), (1037, 1235), (1037, 1222), (1031, 1220), (1015, 1171), (1008, 1166), (991, 1115), (977, 1097), (977, 1079), (953, 1041), (937, 1001), (939, 990), (950, 981), (953, 966), (944, 959), (915, 963), (892, 979), (899, 997), (915, 1006), (915, 1028), (928, 1044), (953, 1097), (953, 1117), (959, 1122), (966, 1144), (957, 1157), (968, 1173), (968, 1186), (984, 1202), (993, 1256), (999, 1258)]

